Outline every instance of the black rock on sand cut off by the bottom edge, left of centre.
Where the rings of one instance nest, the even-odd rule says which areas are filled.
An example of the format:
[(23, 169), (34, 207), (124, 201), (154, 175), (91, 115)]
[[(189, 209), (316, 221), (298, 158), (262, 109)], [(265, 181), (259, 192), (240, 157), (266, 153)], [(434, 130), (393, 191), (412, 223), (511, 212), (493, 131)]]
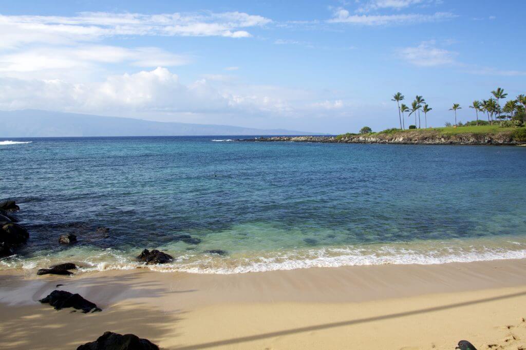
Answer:
[(80, 345), (77, 350), (159, 350), (159, 347), (134, 334), (104, 332), (95, 342)]

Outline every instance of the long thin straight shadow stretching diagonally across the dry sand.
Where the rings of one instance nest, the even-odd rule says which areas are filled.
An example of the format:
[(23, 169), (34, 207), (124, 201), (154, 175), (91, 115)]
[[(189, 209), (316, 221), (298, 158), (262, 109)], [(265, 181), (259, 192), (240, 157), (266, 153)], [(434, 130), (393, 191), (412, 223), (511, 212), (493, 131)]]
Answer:
[(210, 347), (216, 347), (216, 346), (239, 344), (239, 343), (257, 341), (257, 340), (265, 339), (265, 338), (273, 338), (273, 337), (278, 337), (278, 336), (304, 333), (304, 332), (313, 332), (313, 331), (325, 330), (328, 328), (350, 326), (350, 325), (355, 325), (355, 324), (360, 324), (360, 323), (389, 320), (390, 318), (399, 318), (399, 317), (404, 317), (404, 316), (411, 316), (411, 315), (418, 315), (418, 314), (448, 310), (452, 308), (487, 303), (491, 301), (503, 300), (503, 299), (513, 298), (513, 297), (523, 296), (523, 295), (526, 295), (526, 291), (519, 292), (519, 293), (513, 293), (513, 294), (499, 295), (499, 296), (483, 298), (483, 299), (478, 299), (478, 300), (472, 300), (472, 301), (467, 301), (467, 302), (462, 302), (462, 303), (422, 308), (420, 310), (399, 312), (399, 313), (380, 315), (380, 316), (374, 316), (374, 317), (358, 318), (357, 320), (348, 320), (348, 321), (341, 321), (341, 322), (318, 324), (318, 325), (307, 326), (307, 327), (292, 328), (290, 330), (284, 330), (284, 331), (269, 332), (269, 333), (262, 333), (262, 334), (256, 334), (256, 335), (239, 337), (239, 338), (225, 339), (225, 340), (216, 341), (216, 342), (179, 346), (177, 347), (177, 350), (194, 350), (194, 349), (203, 349), (203, 348), (210, 348)]

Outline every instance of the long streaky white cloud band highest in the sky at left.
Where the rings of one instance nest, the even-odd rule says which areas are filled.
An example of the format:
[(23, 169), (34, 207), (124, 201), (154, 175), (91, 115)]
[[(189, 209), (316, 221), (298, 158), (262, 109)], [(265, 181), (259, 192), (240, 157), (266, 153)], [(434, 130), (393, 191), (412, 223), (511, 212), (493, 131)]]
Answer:
[(249, 37), (249, 27), (271, 20), (241, 12), (198, 14), (128, 14), (86, 12), (76, 16), (0, 15), (0, 47), (29, 43), (70, 44), (112, 36), (224, 36)]

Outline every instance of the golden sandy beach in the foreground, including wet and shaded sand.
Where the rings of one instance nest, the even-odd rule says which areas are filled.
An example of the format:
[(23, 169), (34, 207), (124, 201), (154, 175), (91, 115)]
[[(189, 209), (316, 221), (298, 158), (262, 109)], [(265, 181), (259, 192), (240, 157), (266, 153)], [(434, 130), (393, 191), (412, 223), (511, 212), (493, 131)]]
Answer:
[[(526, 346), (526, 261), (237, 275), (0, 273), (0, 348), (75, 349), (104, 331), (165, 349), (479, 349)], [(80, 293), (100, 313), (37, 300)]]

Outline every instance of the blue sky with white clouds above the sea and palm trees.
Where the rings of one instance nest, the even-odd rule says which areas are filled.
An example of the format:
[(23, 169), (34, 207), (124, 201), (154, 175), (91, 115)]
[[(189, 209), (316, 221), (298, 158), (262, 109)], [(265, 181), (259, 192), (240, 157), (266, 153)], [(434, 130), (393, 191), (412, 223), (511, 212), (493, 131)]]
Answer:
[[(430, 125), (526, 93), (523, 1), (18, 1), (0, 4), (0, 109), (315, 132)], [(407, 120), (406, 120), (407, 124)]]

